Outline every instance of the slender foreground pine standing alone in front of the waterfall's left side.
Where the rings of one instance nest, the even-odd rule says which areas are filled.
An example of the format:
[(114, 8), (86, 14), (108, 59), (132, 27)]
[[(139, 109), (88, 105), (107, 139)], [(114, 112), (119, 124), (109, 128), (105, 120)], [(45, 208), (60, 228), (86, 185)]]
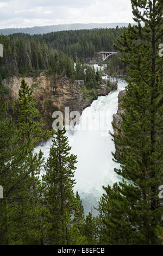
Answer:
[(48, 229), (47, 243), (51, 245), (73, 244), (74, 231), (79, 234), (79, 230), (72, 225), (72, 215), (76, 203), (73, 186), (77, 156), (70, 155), (71, 147), (68, 145), (65, 133), (65, 129), (55, 133), (53, 145), (45, 164), (45, 175), (42, 177), (45, 187), (44, 205), (49, 211), (47, 222), (51, 226)]

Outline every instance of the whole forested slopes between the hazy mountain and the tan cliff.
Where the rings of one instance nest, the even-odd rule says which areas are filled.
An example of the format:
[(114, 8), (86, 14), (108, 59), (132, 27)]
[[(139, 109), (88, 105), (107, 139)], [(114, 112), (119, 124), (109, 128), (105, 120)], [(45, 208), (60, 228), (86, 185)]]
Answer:
[(117, 27), (43, 35), (0, 35), (4, 49), (4, 57), (0, 59), (0, 82), (12, 75), (39, 75), (42, 70), (57, 77), (74, 79), (76, 57), (82, 61), (101, 50), (115, 51), (114, 43), (123, 30)]

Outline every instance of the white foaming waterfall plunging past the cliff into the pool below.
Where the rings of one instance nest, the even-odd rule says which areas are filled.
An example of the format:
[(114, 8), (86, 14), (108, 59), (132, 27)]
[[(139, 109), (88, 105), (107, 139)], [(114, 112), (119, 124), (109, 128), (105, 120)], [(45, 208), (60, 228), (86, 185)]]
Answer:
[[(97, 206), (104, 192), (102, 186), (112, 186), (119, 180), (114, 172), (114, 168), (118, 166), (112, 161), (111, 152), (115, 152), (115, 146), (109, 131), (112, 132), (112, 115), (117, 112), (118, 93), (126, 85), (124, 80), (118, 79), (118, 89), (107, 96), (99, 96), (90, 107), (84, 109), (74, 132), (66, 132), (71, 151), (77, 155), (78, 160), (74, 192), (78, 190), (86, 213), (92, 209), (92, 213), (96, 215), (93, 205)], [(99, 128), (102, 124), (104, 127)], [(52, 139), (49, 139), (35, 151), (39, 152), (41, 149), (46, 159), (51, 143)]]

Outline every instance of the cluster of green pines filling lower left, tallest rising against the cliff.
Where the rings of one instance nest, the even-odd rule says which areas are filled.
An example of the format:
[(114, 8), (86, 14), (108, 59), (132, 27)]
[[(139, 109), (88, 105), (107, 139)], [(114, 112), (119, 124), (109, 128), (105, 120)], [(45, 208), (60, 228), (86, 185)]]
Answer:
[[(39, 174), (42, 167), (42, 153), (34, 154), (33, 149), (40, 139), (46, 138), (49, 132), (42, 132), (42, 124), (34, 119), (39, 115), (33, 101), (32, 89), (22, 80), (18, 92), (19, 98), (15, 101), (14, 113), (17, 114), (17, 124), (10, 119), (9, 129), (12, 126), (12, 136), (16, 139), (13, 143), (12, 136), (5, 147), (2, 160), (2, 179), (4, 200), (2, 202), (2, 229), (5, 230), (2, 244), (9, 245), (39, 245), (46, 237), (46, 223), (42, 220), (45, 211), (40, 205), (40, 180)], [(4, 124), (8, 119), (4, 119)], [(3, 123), (2, 123), (3, 124)], [(3, 131), (4, 129), (2, 129)], [(4, 136), (5, 133), (4, 133)], [(9, 157), (9, 160), (5, 160)], [(6, 168), (8, 163), (8, 169)], [(4, 170), (3, 170), (4, 169)], [(35, 222), (33, 221), (33, 218)]]

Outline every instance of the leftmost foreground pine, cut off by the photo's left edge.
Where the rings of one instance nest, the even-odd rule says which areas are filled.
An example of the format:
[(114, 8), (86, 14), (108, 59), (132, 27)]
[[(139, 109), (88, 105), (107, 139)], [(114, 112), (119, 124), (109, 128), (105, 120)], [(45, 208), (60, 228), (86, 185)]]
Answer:
[[(8, 212), (8, 197), (10, 190), (15, 182), (15, 175), (12, 171), (12, 167), (22, 160), (20, 150), (17, 147), (17, 143), (20, 141), (20, 135), (18, 134), (14, 123), (11, 118), (7, 118), (7, 103), (3, 104), (0, 108), (0, 184), (3, 186), (3, 198), (0, 201), (1, 209), (1, 233), (0, 241), (1, 245), (8, 245), (10, 243), (9, 234), (9, 212)], [(23, 149), (21, 150), (23, 151)], [(23, 155), (23, 154), (22, 154)], [(10, 175), (8, 174), (10, 173)], [(12, 179), (11, 179), (12, 177)], [(16, 180), (17, 181), (17, 180)], [(13, 192), (13, 191), (11, 191)]]

